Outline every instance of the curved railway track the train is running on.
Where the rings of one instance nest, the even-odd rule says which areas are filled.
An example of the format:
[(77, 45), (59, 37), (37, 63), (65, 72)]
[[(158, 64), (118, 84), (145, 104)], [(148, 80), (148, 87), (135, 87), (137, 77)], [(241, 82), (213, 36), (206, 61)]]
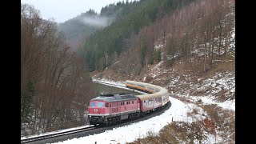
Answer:
[[(109, 84), (106, 82), (98, 82), (98, 83), (102, 83), (108, 86), (117, 86), (119, 88), (124, 88), (126, 90), (134, 90), (134, 89), (130, 89), (127, 88), (126, 86), (120, 86), (120, 85), (115, 85), (115, 84)], [(160, 87), (160, 86), (159, 86)], [(137, 89), (138, 90), (138, 89)], [(138, 90), (138, 92), (146, 92), (146, 90)], [(146, 94), (146, 93), (145, 93)], [(147, 94), (152, 94), (152, 92), (147, 92)], [(38, 144), (38, 143), (51, 143), (51, 142), (60, 142), (60, 141), (64, 141), (67, 139), (71, 139), (71, 138), (80, 138), (80, 137), (85, 137), (86, 135), (90, 135), (90, 134), (99, 134), (104, 132), (105, 130), (113, 130), (116, 127), (120, 127), (120, 126), (126, 126), (130, 123), (133, 122), (139, 122), (139, 121), (143, 121), (149, 118), (152, 118), (154, 116), (157, 116), (159, 114), (162, 114), (165, 110), (169, 109), (171, 106), (171, 102), (168, 102), (166, 104), (166, 106), (164, 106), (162, 108), (162, 110), (156, 110), (150, 114), (145, 115), (144, 117), (141, 118), (137, 118), (134, 119), (132, 121), (124, 121), (124, 122), (120, 122), (114, 126), (88, 126), (88, 127), (83, 127), (83, 128), (78, 128), (75, 130), (68, 130), (68, 131), (61, 131), (61, 132), (56, 132), (54, 134), (43, 134), (43, 135), (39, 135), (39, 136), (33, 136), (30, 138), (22, 138), (21, 139), (21, 143), (34, 143), (34, 144)]]

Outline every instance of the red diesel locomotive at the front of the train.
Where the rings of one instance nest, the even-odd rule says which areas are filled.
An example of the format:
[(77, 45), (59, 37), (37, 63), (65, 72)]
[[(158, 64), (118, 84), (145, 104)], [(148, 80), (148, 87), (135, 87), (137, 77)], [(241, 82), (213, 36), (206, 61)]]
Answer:
[(134, 94), (100, 94), (90, 100), (90, 125), (112, 125), (124, 119), (138, 118), (140, 103)]

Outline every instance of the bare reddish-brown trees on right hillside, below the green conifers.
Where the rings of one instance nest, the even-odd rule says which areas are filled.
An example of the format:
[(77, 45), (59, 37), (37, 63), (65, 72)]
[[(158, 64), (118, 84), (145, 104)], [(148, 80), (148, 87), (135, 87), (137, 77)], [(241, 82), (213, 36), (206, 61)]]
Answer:
[(168, 68), (182, 58), (194, 72), (206, 72), (214, 60), (230, 52), (232, 30), (233, 0), (198, 0), (132, 33), (111, 67), (121, 74), (139, 75), (147, 65), (163, 60)]

